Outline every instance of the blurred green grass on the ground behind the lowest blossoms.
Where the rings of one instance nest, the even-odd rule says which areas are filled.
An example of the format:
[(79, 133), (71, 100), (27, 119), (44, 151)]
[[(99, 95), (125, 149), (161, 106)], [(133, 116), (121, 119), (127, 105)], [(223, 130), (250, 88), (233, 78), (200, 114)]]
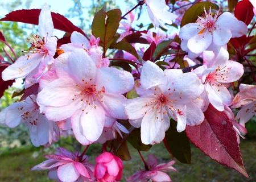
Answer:
[[(130, 161), (124, 162), (125, 170), (124, 177), (131, 176), (139, 168), (143, 168), (143, 163), (138, 152), (129, 145), (131, 157)], [(90, 157), (90, 162), (95, 163), (95, 157), (101, 152), (101, 145), (90, 146), (86, 154)], [(234, 169), (218, 164), (216, 161), (204, 155), (198, 148), (192, 145), (192, 161), (191, 164), (181, 164), (176, 162), (174, 167), (179, 172), (168, 173), (172, 181), (256, 181), (256, 141), (242, 140), (240, 144), (241, 153), (245, 168), (250, 176), (250, 179), (242, 176)], [(37, 153), (38, 152), (38, 153)], [(53, 152), (50, 152), (53, 154)], [(154, 154), (158, 157), (159, 163), (167, 163), (170, 159), (170, 154), (166, 151), (163, 144), (155, 145), (148, 152), (142, 152), (142, 155), (147, 159), (147, 154)], [(43, 155), (47, 153), (43, 148), (32, 146), (19, 147), (11, 150), (0, 150), (0, 181), (53, 181), (48, 178), (48, 171), (30, 171), (34, 167), (46, 160)], [(39, 154), (37, 158), (32, 158), (33, 155)]]

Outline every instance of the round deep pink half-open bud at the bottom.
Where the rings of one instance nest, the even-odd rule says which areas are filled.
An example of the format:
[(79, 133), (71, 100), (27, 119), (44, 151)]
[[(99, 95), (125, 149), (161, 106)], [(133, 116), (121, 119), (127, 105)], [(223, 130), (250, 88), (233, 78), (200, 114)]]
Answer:
[(112, 182), (119, 181), (122, 177), (123, 162), (118, 156), (110, 152), (104, 152), (97, 156), (97, 162), (93, 175), (98, 181)]

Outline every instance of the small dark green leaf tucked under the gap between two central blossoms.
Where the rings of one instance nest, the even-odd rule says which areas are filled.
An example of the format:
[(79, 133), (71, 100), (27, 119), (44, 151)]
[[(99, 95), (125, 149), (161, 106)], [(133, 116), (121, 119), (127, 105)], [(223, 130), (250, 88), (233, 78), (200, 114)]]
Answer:
[(129, 137), (127, 137), (127, 141), (137, 150), (139, 151), (148, 151), (152, 147), (151, 144), (144, 144), (141, 142), (141, 128), (134, 129)]

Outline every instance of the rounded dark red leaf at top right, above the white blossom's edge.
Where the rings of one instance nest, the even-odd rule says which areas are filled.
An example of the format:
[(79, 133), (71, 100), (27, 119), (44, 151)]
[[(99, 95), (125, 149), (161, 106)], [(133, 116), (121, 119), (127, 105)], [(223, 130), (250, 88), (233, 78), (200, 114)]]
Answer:
[(238, 2), (234, 10), (234, 16), (246, 25), (250, 24), (254, 16), (253, 5), (251, 5), (249, 0)]

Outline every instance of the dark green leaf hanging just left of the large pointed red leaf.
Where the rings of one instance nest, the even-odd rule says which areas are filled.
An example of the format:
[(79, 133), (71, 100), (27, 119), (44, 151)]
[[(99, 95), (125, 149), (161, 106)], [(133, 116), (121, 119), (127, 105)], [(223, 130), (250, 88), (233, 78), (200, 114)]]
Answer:
[(170, 120), (170, 127), (166, 131), (164, 144), (167, 151), (170, 151), (177, 160), (181, 163), (190, 164), (191, 148), (185, 131), (177, 132), (177, 122), (174, 119)]

